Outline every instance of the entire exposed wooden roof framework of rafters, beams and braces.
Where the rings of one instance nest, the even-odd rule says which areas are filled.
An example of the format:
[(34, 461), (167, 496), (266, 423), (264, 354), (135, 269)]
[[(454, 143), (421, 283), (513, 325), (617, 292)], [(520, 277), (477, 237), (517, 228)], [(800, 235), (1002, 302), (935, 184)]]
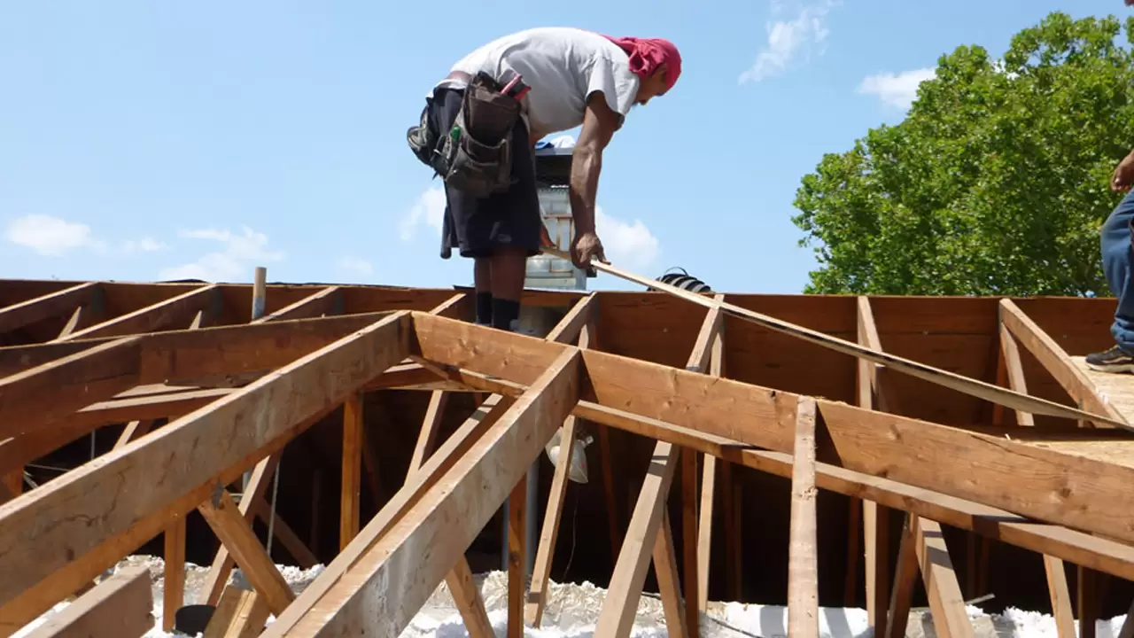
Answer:
[[(277, 619), (263, 636), (393, 638), (446, 581), (469, 632), (489, 638), (492, 628), (464, 553), (506, 501), (508, 635), (519, 636), (521, 623), (539, 624), (547, 604), (569, 457), (556, 469), (530, 586), (523, 572), (526, 469), (558, 428), (570, 439), (584, 421), (598, 426), (600, 450), (608, 428), (655, 442), (628, 528), (618, 542), (611, 531), (618, 559), (596, 636), (628, 636), (651, 564), (670, 635), (699, 635), (718, 467), (790, 478), (792, 636), (818, 635), (816, 489), (861, 502), (853, 511), (861, 521), (854, 520), (850, 530), (856, 535), (861, 523), (868, 611), (877, 635), (904, 635), (919, 574), (938, 632), (973, 633), (942, 524), (1041, 554), (1060, 635), (1074, 636), (1075, 618), (1093, 618), (1082, 596), (1080, 610), (1072, 610), (1064, 561), (1134, 579), (1134, 468), (1026, 440), (1034, 421), (1021, 405), (1039, 404), (1021, 403), (1027, 386), (1019, 346), (1075, 400), (1078, 414), (1091, 414), (1067, 421), (1061, 435), (1122, 439), (1128, 433), (1110, 426), (1125, 425), (1126, 418), (1013, 300), (999, 302), (998, 377), (1007, 389), (980, 392), (995, 404), (995, 422), (1013, 411), (1015, 429), (902, 415), (898, 401), (914, 398), (899, 397), (891, 384), (909, 370), (903, 368), (905, 360), (877, 356), (886, 351), (868, 297), (855, 301), (861, 350), (844, 350), (857, 356), (857, 404), (852, 405), (726, 378), (725, 295), (703, 297), (711, 303), (704, 304), (682, 368), (598, 349), (603, 293), (555, 296), (570, 310), (541, 339), (463, 320), (471, 305), (458, 291), (272, 287), (265, 313), (245, 322), (225, 319), (225, 305), (251, 303), (248, 286), (6, 285), (17, 291), (11, 295), (26, 299), (0, 308), (0, 338), (10, 337), (10, 345), (0, 347), (3, 636), (75, 593), (86, 591), (83, 604), (68, 608), (71, 615), (104, 613), (128, 591), (147, 596), (145, 588), (130, 586), (138, 578), (133, 572), (93, 582), (162, 534), (171, 570), (167, 610), (176, 608), (184, 564), (169, 556), (178, 555), (178, 543), (184, 546), (184, 518), (197, 510), (222, 542), (210, 571), (209, 601), (232, 613), (259, 610), (260, 615), (245, 619), (271, 612)], [(52, 289), (43, 292), (45, 286)], [(133, 302), (122, 301), (127, 291)], [(349, 295), (372, 301), (364, 311), (354, 304), (344, 313)], [(527, 301), (541, 299), (531, 293)], [(35, 335), (20, 333), (35, 326)], [(821, 346), (833, 347), (822, 341)], [(373, 434), (362, 428), (359, 396), (383, 388), (432, 394), (404, 486), (364, 522), (357, 495), (366, 461), (358, 442)], [(954, 388), (978, 393), (973, 386)], [(438, 440), (437, 414), (454, 392), (481, 393), (483, 401), (454, 435)], [(251, 520), (266, 509), (263, 495), (280, 451), (340, 405), (346, 406), (341, 552), (296, 596)], [(155, 419), (166, 418), (167, 425), (151, 429)], [(120, 422), (129, 426), (111, 452), (25, 490), (25, 464)], [(251, 479), (237, 504), (226, 486), (246, 472)], [(666, 503), (675, 476), (683, 477), (674, 496), (683, 506), (682, 519), (671, 521)], [(905, 517), (900, 538), (885, 534), (882, 521), (891, 512)], [(675, 547), (672, 526), (697, 543)], [(295, 555), (304, 554), (286, 522), (277, 521), (276, 534), (289, 551), (298, 546)], [(857, 537), (850, 542), (857, 544)], [(900, 547), (892, 573), (881, 559), (889, 544)], [(683, 581), (679, 562), (683, 573), (696, 578)], [(255, 601), (246, 599), (247, 593), (226, 594), (234, 563), (247, 574)], [(1089, 586), (1081, 579), (1081, 587)], [(94, 598), (101, 603), (92, 604)], [(231, 618), (225, 622), (231, 635), (244, 631), (234, 629), (239, 623)]]

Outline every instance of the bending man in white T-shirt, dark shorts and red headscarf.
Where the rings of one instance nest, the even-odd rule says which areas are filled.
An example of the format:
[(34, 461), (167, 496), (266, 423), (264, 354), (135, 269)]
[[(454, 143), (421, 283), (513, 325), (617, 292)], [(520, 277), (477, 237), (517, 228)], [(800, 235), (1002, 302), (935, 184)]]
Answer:
[(570, 254), (607, 261), (595, 234), (602, 152), (635, 104), (668, 92), (682, 58), (667, 40), (533, 28), (489, 42), (426, 96), (411, 149), (446, 181), (441, 257), (474, 260), (476, 322), (515, 330), (528, 257), (552, 245), (536, 196), (534, 148), (582, 125), (572, 154)]

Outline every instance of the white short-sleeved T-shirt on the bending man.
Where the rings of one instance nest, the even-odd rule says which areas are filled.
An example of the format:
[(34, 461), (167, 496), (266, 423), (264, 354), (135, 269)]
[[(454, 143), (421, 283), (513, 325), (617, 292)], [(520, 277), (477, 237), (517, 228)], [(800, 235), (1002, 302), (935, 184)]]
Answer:
[(465, 56), (450, 70), (500, 77), (507, 69), (532, 87), (523, 104), (533, 138), (581, 126), (586, 99), (595, 91), (602, 92), (611, 110), (626, 116), (638, 90), (625, 51), (602, 35), (572, 27), (506, 35)]

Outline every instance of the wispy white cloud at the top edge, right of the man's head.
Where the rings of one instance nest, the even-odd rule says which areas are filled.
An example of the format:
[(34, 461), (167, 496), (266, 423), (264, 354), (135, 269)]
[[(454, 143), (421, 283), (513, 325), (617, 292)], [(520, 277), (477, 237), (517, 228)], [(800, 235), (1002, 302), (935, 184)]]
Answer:
[[(830, 31), (827, 28), (827, 14), (837, 0), (826, 0), (822, 5), (798, 7), (792, 19), (779, 19), (765, 25), (768, 44), (756, 56), (756, 61), (737, 78), (745, 82), (761, 79), (784, 72), (793, 59), (810, 56), (812, 52), (822, 56)], [(782, 12), (785, 3), (773, 0), (772, 14)]]

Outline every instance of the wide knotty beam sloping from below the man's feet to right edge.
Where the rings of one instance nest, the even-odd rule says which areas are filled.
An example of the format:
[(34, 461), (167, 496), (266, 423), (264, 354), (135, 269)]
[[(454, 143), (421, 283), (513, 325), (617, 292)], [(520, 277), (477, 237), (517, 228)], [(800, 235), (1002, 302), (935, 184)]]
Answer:
[[(528, 381), (531, 366), (569, 347), (508, 333), (488, 338), (481, 326), (416, 313), (415, 327), (421, 354), (414, 356), (517, 383)], [(473, 343), (475, 351), (463, 345)], [(776, 425), (772, 409), (772, 396), (786, 393), (604, 352), (582, 354), (595, 403), (767, 450), (792, 448), (793, 433)], [(1134, 468), (839, 402), (816, 400), (816, 406), (831, 435), (820, 460), (1134, 543), (1120, 513), (1134, 509), (1126, 488)], [(738, 413), (748, 418), (738, 421)]]

